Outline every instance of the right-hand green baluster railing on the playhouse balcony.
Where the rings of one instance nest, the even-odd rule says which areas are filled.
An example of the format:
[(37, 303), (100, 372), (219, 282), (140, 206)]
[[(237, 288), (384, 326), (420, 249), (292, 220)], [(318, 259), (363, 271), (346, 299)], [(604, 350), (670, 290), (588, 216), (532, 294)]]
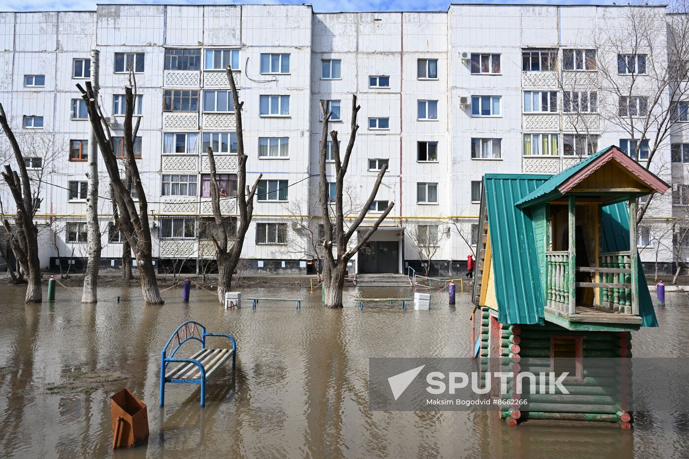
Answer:
[(600, 254), (601, 308), (632, 314), (632, 276), (629, 252)]

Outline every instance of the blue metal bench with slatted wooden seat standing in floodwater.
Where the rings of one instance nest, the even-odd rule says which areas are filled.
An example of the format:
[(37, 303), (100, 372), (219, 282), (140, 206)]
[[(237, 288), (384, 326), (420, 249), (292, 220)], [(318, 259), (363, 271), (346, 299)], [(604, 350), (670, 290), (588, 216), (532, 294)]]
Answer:
[[(232, 349), (208, 349), (206, 336), (225, 336), (232, 343)], [(188, 340), (197, 340), (201, 343), (201, 349), (189, 358), (176, 358), (174, 354), (181, 345)], [(167, 356), (167, 349), (176, 342), (176, 347)], [(232, 369), (236, 365), (237, 343), (232, 336), (225, 333), (207, 333), (206, 327), (198, 322), (189, 320), (174, 331), (161, 352), (161, 407), (165, 404), (165, 383), (196, 383), (201, 385), (201, 406), (205, 405), (206, 380), (232, 357)], [(179, 363), (171, 371), (167, 371), (167, 365)], [(166, 372), (167, 371), (167, 372)]]

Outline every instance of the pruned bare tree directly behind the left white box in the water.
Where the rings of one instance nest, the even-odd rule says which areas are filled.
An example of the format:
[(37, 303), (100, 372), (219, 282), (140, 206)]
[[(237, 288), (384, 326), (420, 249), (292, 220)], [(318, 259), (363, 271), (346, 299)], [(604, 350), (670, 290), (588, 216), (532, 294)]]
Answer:
[[(218, 301), (225, 301), (225, 292), (232, 289), (232, 275), (239, 263), (242, 254), (244, 238), (249, 230), (251, 218), (254, 216), (254, 196), (263, 174), (259, 174), (254, 185), (249, 187), (247, 183), (247, 155), (244, 152), (244, 131), (242, 128), (242, 107), (244, 102), (239, 101), (237, 87), (234, 83), (232, 69), (227, 66), (227, 80), (229, 88), (232, 90), (232, 101), (234, 102), (234, 116), (236, 117), (237, 133), (237, 210), (239, 218), (236, 223), (236, 235), (229, 232), (229, 218), (223, 216), (220, 210), (220, 190), (216, 181), (216, 164), (211, 147), (207, 148), (208, 164), (211, 175), (211, 207), (215, 225), (210, 232), (211, 241), (216, 249), (216, 259), (218, 261)], [(231, 190), (227, 190), (230, 192)], [(246, 193), (246, 194), (245, 194)]]

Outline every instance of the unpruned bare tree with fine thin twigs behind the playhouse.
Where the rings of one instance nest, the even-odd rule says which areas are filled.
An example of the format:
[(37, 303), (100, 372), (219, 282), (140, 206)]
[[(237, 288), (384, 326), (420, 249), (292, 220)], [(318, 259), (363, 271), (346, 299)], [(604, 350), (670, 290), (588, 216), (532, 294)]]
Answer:
[[(679, 122), (688, 114), (677, 101), (689, 95), (689, 85), (683, 83), (689, 77), (689, 15), (684, 1), (676, 2), (673, 10), (680, 14), (644, 6), (622, 8), (621, 17), (611, 18), (594, 36), (601, 115), (626, 133), (634, 150), (628, 153), (647, 161), (649, 169), (670, 135), (688, 128)], [(637, 225), (652, 201), (650, 196), (639, 205)]]

